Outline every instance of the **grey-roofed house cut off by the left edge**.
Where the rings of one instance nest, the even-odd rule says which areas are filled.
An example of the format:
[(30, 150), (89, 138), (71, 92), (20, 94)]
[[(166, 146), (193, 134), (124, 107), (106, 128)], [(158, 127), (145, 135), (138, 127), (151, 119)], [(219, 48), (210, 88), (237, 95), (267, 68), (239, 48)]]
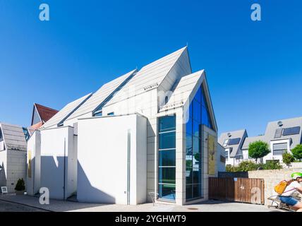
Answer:
[(18, 179), (26, 180), (28, 129), (0, 122), (0, 186), (15, 191)]

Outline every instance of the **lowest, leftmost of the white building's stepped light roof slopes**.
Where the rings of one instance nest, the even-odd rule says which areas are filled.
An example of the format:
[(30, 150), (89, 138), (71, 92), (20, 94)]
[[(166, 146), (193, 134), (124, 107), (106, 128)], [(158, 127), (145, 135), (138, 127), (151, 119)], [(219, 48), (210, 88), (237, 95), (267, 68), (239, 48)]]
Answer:
[(83, 105), (83, 103), (88, 100), (89, 97), (91, 97), (92, 93), (89, 93), (85, 95), (84, 97), (80, 97), (78, 100), (74, 100), (73, 102), (69, 103), (65, 107), (63, 107), (58, 113), (52, 117), (52, 119), (49, 119), (41, 128), (47, 129), (52, 126), (57, 126), (61, 122), (63, 122), (65, 119), (67, 119), (73, 112), (80, 107), (80, 105)]

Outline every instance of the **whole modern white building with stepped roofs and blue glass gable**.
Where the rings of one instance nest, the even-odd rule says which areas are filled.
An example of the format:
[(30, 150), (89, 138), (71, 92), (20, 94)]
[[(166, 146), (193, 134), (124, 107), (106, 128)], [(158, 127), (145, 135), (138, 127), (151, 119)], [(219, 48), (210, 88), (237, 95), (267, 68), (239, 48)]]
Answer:
[(205, 71), (192, 72), (184, 47), (69, 103), (35, 131), (28, 194), (47, 187), (51, 198), (90, 203), (195, 203), (224, 169), (220, 147)]

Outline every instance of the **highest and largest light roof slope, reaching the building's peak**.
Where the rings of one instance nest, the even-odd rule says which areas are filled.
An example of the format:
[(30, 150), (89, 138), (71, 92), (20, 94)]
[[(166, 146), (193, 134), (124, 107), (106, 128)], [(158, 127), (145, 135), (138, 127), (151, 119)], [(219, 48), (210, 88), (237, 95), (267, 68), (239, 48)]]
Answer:
[[(131, 79), (122, 89), (117, 93), (106, 106), (112, 105), (121, 100), (125, 100), (129, 97), (133, 97), (140, 93), (144, 93), (147, 90), (157, 88), (164, 78), (168, 75), (171, 69), (175, 66), (178, 59), (182, 54), (188, 54), (187, 47), (177, 50), (174, 53), (162, 57), (157, 61), (144, 66), (134, 78)], [(179, 66), (181, 69), (181, 66)], [(188, 74), (188, 73), (186, 73)]]

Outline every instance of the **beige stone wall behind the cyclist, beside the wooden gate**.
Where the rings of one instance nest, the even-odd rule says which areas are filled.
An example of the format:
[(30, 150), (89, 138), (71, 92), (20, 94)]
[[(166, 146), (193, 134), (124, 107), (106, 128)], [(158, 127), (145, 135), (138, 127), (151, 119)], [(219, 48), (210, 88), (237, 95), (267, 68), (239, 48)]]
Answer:
[(267, 198), (277, 195), (274, 192), (274, 186), (284, 179), (291, 179), (293, 172), (302, 172), (302, 168), (249, 171), (248, 178), (261, 178), (265, 180), (265, 205), (267, 206), (271, 204)]

